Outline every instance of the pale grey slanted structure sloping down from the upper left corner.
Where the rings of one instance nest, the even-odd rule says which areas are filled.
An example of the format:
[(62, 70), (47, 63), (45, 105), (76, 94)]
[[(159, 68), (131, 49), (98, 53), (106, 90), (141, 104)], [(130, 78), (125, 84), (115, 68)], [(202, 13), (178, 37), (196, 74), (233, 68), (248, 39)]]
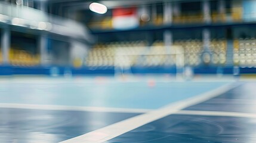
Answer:
[(6, 24), (46, 30), (58, 35), (91, 41), (91, 36), (84, 24), (57, 15), (50, 15), (30, 7), (0, 2), (0, 21)]

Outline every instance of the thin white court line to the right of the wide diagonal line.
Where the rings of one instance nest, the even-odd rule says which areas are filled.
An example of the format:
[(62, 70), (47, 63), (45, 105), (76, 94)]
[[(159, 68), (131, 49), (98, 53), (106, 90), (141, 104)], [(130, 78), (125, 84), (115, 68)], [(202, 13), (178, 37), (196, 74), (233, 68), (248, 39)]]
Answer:
[(175, 114), (183, 115), (196, 115), (196, 116), (224, 116), (224, 117), (248, 117), (256, 118), (256, 113), (242, 113), (230, 111), (194, 111), (194, 110), (181, 110)]

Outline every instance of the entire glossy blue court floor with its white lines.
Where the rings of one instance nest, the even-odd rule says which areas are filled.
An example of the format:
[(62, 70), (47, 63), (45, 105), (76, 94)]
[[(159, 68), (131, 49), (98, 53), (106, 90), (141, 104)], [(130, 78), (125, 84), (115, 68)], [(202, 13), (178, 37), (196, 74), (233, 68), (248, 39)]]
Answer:
[(0, 80), (0, 142), (256, 142), (255, 86)]

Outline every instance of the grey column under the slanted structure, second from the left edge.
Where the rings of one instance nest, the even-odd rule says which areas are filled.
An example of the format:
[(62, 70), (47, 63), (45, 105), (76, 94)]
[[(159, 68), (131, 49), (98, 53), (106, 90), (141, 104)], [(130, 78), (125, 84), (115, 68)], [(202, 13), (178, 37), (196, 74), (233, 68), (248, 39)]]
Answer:
[(39, 49), (40, 49), (40, 61), (41, 65), (45, 66), (47, 64), (47, 36), (39, 36)]

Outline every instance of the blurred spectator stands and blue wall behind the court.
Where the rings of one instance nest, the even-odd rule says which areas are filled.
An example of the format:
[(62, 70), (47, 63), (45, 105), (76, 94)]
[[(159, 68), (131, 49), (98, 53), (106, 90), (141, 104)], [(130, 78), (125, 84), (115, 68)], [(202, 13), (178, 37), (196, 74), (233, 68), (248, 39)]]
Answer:
[(0, 75), (256, 73), (253, 0), (1, 0)]

